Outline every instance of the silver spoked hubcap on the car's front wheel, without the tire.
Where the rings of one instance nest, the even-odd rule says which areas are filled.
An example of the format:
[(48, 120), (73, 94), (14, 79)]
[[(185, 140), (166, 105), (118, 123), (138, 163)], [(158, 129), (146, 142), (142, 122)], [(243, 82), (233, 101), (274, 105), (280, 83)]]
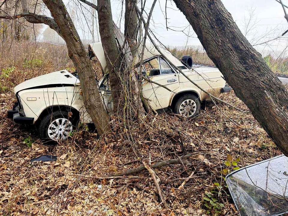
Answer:
[(59, 118), (50, 123), (47, 133), (51, 140), (66, 140), (72, 130), (72, 123), (68, 119)]

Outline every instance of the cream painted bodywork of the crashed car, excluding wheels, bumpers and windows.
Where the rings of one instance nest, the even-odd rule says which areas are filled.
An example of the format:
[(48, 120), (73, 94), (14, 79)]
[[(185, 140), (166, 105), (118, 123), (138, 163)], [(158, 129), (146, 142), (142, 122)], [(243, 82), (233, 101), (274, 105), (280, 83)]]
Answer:
[[(102, 44), (95, 43), (89, 46), (105, 71), (107, 63)], [(176, 66), (187, 68), (169, 51), (161, 48), (161, 52)], [(144, 52), (144, 59), (150, 59), (154, 56), (160, 56), (160, 53), (155, 47), (148, 44)], [(136, 59), (135, 62), (138, 61), (139, 59)], [(175, 73), (149, 77), (152, 81), (165, 85), (172, 92), (143, 80), (143, 95), (149, 100), (152, 109), (159, 110), (171, 106), (174, 96), (186, 91), (195, 92), (199, 96), (200, 101), (210, 100), (207, 94), (193, 85), (181, 73), (178, 73), (175, 68), (172, 67), (172, 70)], [(220, 95), (220, 89), (223, 88), (226, 83), (217, 68), (201, 66), (193, 67), (193, 70), (183, 69), (182, 71), (196, 82), (197, 85), (214, 96)], [(101, 86), (104, 78), (105, 77), (102, 77), (99, 81), (99, 86)], [(110, 112), (113, 110), (111, 91), (103, 89), (100, 89), (100, 91), (106, 110)], [(38, 120), (44, 110), (47, 108), (52, 109), (53, 106), (72, 107), (79, 111), (80, 119), (83, 123), (92, 122), (84, 107), (82, 94), (80, 93), (80, 81), (67, 70), (56, 71), (29, 79), (17, 85), (14, 88), (14, 92), (20, 98), (25, 116), (34, 118), (34, 122)]]

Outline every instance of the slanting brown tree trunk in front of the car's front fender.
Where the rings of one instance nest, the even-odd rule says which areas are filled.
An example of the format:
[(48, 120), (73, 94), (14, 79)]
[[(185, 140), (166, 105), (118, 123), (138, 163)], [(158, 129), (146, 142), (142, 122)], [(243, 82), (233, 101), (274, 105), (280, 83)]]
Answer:
[(92, 63), (62, 0), (43, 0), (50, 10), (61, 37), (65, 40), (68, 55), (72, 59), (80, 78), (85, 108), (95, 124), (98, 134), (110, 129), (109, 117), (101, 101)]

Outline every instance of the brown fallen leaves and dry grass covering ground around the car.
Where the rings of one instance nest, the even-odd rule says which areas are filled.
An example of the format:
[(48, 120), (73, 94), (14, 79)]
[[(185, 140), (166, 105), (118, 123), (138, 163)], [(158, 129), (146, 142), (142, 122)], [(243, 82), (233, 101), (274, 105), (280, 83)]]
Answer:
[[(233, 92), (221, 98), (245, 113), (217, 103), (220, 111), (211, 103), (194, 119), (181, 120), (167, 113), (133, 122), (128, 129), (142, 158), (135, 157), (122, 135), (122, 123), (113, 119), (111, 131), (101, 139), (81, 126), (72, 139), (55, 146), (44, 145), (34, 126), (15, 125), (5, 117), (15, 100), (13, 86), (24, 78), (71, 67), (66, 48), (41, 46), (38, 44), (36, 51), (33, 46), (28, 49), (26, 58), (14, 49), (1, 54), (1, 85), (7, 87), (0, 94), (3, 215), (235, 215), (225, 175), (280, 154)], [(48, 58), (49, 47), (53, 58)], [(14, 58), (8, 57), (11, 53)], [(33, 63), (36, 57), (41, 64)], [(31, 67), (25, 66), (26, 59)], [(14, 69), (6, 73), (7, 67)], [(58, 159), (29, 162), (45, 154), (57, 155)], [(163, 161), (178, 161), (153, 167), (164, 202), (149, 173), (140, 169), (140, 159), (152, 167), (163, 165)], [(122, 175), (135, 168), (141, 171)]]

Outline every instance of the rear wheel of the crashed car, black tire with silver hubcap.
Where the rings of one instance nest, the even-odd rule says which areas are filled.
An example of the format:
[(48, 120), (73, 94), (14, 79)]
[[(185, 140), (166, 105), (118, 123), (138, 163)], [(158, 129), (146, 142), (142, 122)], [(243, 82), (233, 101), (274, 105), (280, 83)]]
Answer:
[[(186, 110), (185, 108), (188, 107)], [(195, 95), (185, 94), (176, 101), (173, 112), (185, 118), (193, 118), (199, 114), (200, 101)], [(189, 115), (188, 115), (189, 114)]]

